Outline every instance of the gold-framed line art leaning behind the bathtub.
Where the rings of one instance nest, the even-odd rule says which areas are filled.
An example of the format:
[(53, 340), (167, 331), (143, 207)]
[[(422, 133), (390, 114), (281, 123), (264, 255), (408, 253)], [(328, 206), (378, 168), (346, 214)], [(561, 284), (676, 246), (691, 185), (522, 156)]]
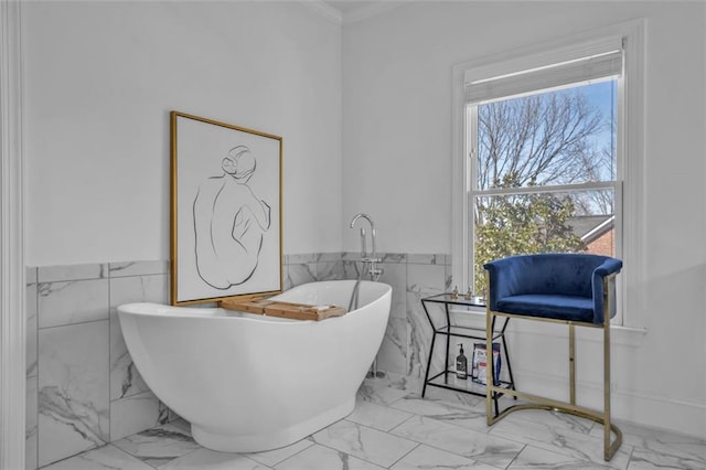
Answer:
[(282, 138), (171, 113), (171, 303), (282, 290)]

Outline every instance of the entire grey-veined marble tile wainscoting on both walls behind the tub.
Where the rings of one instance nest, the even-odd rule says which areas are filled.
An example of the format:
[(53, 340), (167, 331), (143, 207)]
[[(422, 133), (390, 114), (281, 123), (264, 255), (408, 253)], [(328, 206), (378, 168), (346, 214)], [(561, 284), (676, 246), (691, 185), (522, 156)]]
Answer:
[[(359, 257), (287, 255), (285, 289), (314, 280), (366, 278)], [(381, 280), (393, 286), (393, 307), (377, 367), (418, 380), (431, 339), (420, 298), (448, 289), (450, 257), (382, 257)], [(132, 364), (116, 310), (132, 301), (168, 302), (167, 261), (30, 267), (26, 277), (28, 469), (174, 417)]]

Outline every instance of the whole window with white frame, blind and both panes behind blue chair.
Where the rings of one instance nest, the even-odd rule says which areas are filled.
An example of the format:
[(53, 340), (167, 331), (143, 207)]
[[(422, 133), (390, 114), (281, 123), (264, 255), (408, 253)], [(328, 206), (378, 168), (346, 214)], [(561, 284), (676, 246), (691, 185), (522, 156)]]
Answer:
[(628, 93), (628, 84), (641, 92), (639, 67), (625, 66), (641, 51), (628, 46), (640, 42), (637, 30), (618, 26), (568, 46), (454, 67), (453, 207), (463, 214), (454, 218), (454, 284), (482, 291), (483, 264), (515, 254), (616, 256), (625, 261), (616, 320), (624, 323), (623, 278), (641, 259), (635, 231), (625, 229), (641, 215), (633, 197), (641, 126), (627, 122), (640, 106), (640, 94)]

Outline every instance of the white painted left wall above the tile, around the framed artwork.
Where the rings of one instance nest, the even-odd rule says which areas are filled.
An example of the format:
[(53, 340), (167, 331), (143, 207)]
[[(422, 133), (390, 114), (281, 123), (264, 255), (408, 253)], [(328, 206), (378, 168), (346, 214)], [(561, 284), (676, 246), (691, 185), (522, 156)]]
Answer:
[(169, 111), (284, 138), (284, 250), (341, 249), (341, 26), (285, 2), (24, 2), (26, 264), (169, 259)]

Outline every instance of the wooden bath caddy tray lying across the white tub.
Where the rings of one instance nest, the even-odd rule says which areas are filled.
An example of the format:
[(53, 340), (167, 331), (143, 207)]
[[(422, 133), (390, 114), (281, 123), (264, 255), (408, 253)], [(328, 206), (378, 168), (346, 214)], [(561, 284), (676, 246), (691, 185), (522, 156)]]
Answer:
[(340, 317), (346, 310), (338, 306), (309, 306), (306, 303), (282, 302), (264, 298), (223, 299), (221, 307), (228, 310), (259, 313), (269, 317), (290, 318), (293, 320), (324, 320)]

